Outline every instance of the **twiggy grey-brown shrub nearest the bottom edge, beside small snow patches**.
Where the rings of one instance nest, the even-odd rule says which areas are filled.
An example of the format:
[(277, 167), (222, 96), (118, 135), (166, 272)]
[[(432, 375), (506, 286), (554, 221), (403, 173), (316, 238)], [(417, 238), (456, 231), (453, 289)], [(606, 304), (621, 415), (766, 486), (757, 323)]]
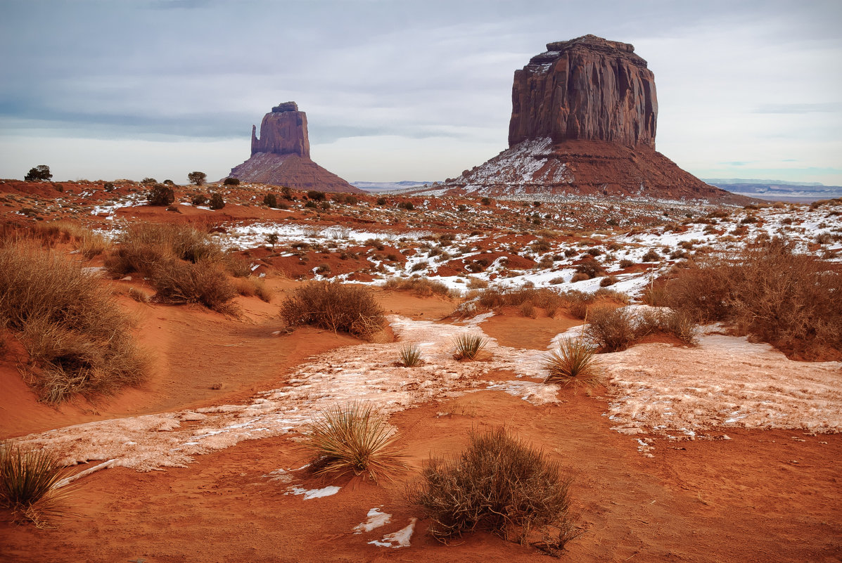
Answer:
[(561, 465), (505, 428), (474, 430), (455, 459), (432, 458), (407, 489), (443, 543), (485, 530), (525, 544), (541, 533), (556, 550), (575, 537), (569, 515), (572, 479)]

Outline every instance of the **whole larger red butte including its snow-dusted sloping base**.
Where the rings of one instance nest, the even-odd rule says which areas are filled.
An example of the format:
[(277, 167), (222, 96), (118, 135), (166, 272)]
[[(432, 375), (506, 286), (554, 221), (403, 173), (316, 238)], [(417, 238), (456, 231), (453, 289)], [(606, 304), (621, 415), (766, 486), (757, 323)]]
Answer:
[[(628, 43), (548, 43), (514, 72), (509, 149), (449, 178), (445, 194), (586, 194), (744, 203), (655, 151), (658, 98)], [(441, 193), (441, 192), (439, 192)]]

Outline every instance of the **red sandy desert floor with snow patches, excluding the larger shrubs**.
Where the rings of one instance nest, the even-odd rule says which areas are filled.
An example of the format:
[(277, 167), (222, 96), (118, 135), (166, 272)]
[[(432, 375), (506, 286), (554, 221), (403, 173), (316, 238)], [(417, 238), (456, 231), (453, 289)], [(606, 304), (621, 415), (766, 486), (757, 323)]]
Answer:
[[(0, 438), (49, 449), (81, 476), (56, 528), (0, 522), (0, 560), (552, 560), (485, 532), (441, 544), (405, 500), (430, 455), (457, 454), (472, 429), (501, 424), (573, 475), (582, 534), (562, 559), (842, 560), (839, 357), (801, 361), (710, 324), (698, 328), (696, 346), (654, 335), (600, 353), (603, 385), (560, 387), (544, 382), (546, 353), (560, 335), (580, 335), (582, 319), (564, 307), (486, 311), (474, 302), (489, 285), (602, 288), (627, 295), (628, 305), (615, 305), (637, 311), (647, 287), (681, 261), (783, 233), (838, 272), (839, 200), (722, 208), (385, 194), (386, 204), (360, 196), (306, 207), (297, 194), (273, 209), (261, 204), (272, 187), (243, 185), (226, 187), (226, 207), (214, 211), (189, 203), (199, 189), (177, 190), (165, 210), (145, 204), (135, 183), (58, 185), (0, 183), (3, 220), (66, 220), (108, 239), (153, 221), (216, 231), (272, 298), (240, 295), (236, 316), (157, 303), (142, 276), (111, 279), (102, 256), (56, 242), (54, 252), (102, 274), (136, 320), (151, 375), (115, 396), (48, 406), (21, 378), (24, 347), (6, 337)], [(604, 275), (573, 281), (583, 261)], [(413, 275), (450, 293), (386, 284)], [(370, 341), (290, 330), (280, 303), (310, 279), (369, 286), (387, 327)], [(453, 359), (461, 334), (488, 339), (481, 359)], [(397, 363), (406, 344), (418, 345), (423, 365)], [(302, 470), (301, 429), (348, 401), (389, 416), (408, 455), (405, 474), (375, 484)]]

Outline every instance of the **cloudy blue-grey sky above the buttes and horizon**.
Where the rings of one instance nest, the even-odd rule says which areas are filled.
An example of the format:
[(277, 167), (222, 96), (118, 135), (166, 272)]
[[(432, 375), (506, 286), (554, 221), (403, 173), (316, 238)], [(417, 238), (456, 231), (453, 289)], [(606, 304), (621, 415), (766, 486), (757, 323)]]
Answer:
[(272, 106), (349, 181), (442, 180), (508, 147), (546, 43), (632, 43), (656, 146), (700, 178), (842, 185), (842, 2), (0, 0), (0, 178), (225, 178)]

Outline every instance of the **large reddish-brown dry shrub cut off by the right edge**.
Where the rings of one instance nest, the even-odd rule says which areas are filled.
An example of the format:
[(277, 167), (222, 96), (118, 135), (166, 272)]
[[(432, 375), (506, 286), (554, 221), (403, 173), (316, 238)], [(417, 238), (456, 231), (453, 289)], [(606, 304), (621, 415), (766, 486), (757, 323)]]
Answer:
[(780, 239), (692, 264), (668, 290), (695, 320), (726, 321), (797, 358), (842, 358), (842, 275)]

